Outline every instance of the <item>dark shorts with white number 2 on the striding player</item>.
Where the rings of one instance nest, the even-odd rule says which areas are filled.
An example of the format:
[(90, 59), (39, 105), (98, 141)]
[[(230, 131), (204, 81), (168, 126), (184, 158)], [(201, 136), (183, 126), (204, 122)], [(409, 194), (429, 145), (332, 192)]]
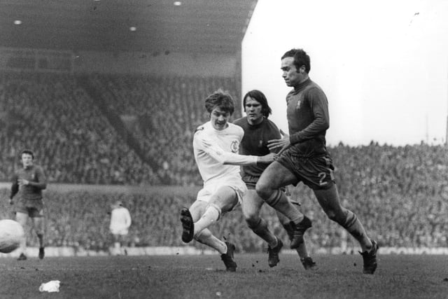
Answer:
[(276, 161), (297, 177), (297, 183), (302, 181), (313, 190), (325, 190), (335, 184), (335, 167), (330, 155), (304, 158), (286, 151)]

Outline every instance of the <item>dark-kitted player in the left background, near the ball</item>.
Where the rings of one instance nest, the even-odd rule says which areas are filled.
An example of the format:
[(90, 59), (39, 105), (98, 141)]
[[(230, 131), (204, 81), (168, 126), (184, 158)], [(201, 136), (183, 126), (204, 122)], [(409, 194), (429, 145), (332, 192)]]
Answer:
[[(39, 241), (38, 257), (45, 256), (43, 243), (43, 201), (42, 190), (47, 188), (47, 179), (42, 167), (34, 165), (34, 153), (29, 150), (20, 153), (22, 168), (18, 169), (13, 176), (13, 185), (9, 203), (14, 204), (15, 220), (25, 228), (28, 218), (31, 218), (34, 231)], [(17, 202), (14, 196), (18, 194)], [(20, 256), (18, 260), (26, 260), (27, 239), (24, 237), (20, 242)]]

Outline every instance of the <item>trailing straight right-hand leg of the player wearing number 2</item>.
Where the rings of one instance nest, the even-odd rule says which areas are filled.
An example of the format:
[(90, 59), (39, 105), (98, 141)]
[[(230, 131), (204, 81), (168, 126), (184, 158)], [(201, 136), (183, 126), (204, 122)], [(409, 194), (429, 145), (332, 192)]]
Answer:
[(361, 255), (364, 259), (364, 273), (373, 274), (377, 268), (377, 242), (372, 241), (367, 236), (367, 232), (365, 232), (365, 228), (356, 214), (342, 207), (336, 185), (332, 184), (330, 188), (325, 190), (314, 190), (314, 194), (328, 218), (339, 223), (358, 240), (363, 251)]

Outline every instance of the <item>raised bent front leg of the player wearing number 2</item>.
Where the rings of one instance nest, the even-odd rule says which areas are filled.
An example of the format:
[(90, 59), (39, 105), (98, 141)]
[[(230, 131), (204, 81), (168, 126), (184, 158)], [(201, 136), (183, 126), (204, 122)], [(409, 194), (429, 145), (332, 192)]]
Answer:
[(269, 206), (281, 212), (281, 214), (288, 217), (294, 223), (294, 237), (290, 245), (292, 249), (297, 248), (303, 243), (303, 234), (305, 230), (311, 227), (309, 218), (304, 217), (300, 211), (295, 209), (286, 194), (280, 190), (281, 187), (294, 185), (297, 181), (295, 174), (279, 162), (274, 161), (261, 174), (255, 186), (258, 195)]

